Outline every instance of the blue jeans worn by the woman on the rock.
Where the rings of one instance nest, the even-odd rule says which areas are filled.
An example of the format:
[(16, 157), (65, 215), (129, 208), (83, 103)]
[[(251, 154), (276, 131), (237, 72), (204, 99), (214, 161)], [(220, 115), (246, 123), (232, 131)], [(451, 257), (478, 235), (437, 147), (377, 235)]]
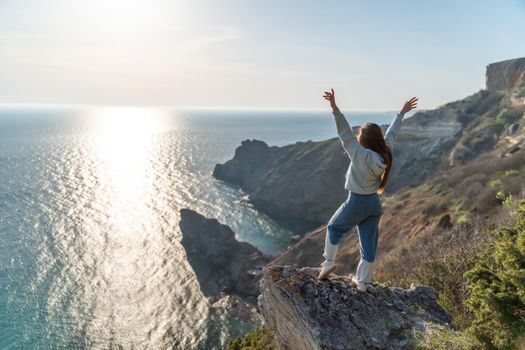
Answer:
[(376, 193), (349, 192), (346, 201), (328, 222), (330, 243), (338, 244), (343, 234), (357, 225), (361, 258), (370, 263), (374, 262), (381, 214), (383, 207)]

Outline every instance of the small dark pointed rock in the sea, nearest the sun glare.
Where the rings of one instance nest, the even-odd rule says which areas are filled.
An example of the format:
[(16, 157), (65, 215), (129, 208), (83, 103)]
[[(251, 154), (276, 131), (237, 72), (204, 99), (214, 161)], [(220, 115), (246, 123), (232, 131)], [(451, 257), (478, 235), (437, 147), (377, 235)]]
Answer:
[(217, 299), (235, 294), (255, 303), (262, 268), (272, 259), (235, 239), (229, 226), (216, 219), (181, 209), (182, 245), (204, 295)]

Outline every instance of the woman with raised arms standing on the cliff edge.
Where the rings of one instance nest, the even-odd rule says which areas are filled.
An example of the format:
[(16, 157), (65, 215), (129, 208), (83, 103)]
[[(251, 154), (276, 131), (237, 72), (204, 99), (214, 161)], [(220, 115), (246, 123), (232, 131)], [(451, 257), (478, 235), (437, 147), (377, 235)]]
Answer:
[(417, 107), (417, 98), (413, 97), (405, 103), (388, 127), (384, 138), (381, 128), (373, 123), (363, 125), (356, 138), (335, 103), (334, 90), (326, 91), (323, 97), (330, 101), (337, 134), (350, 157), (350, 166), (345, 176), (348, 198), (328, 222), (323, 253), (325, 261), (321, 264), (318, 278), (325, 279), (335, 271), (339, 241), (345, 232), (357, 225), (361, 259), (353, 282), (359, 291), (365, 292), (372, 283), (379, 220), (383, 213), (377, 194), (383, 193), (390, 175), (392, 147), (401, 121), (406, 113)]

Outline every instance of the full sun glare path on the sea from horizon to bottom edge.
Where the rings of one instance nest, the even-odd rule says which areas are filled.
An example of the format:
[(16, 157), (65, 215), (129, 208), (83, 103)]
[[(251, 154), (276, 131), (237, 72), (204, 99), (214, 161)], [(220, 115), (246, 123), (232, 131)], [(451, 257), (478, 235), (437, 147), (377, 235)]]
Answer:
[[(98, 258), (96, 279), (86, 290), (95, 300), (88, 337), (160, 345), (165, 330), (155, 324), (170, 319), (163, 303), (173, 293), (166, 281), (174, 279), (166, 262), (173, 248), (163, 242), (163, 224), (154, 210), (155, 186), (166, 185), (155, 183), (154, 165), (167, 116), (156, 109), (103, 108), (89, 117), (98, 181), (95, 205), (104, 208), (107, 223), (104, 237), (86, 245), (88, 254)], [(162, 313), (167, 314), (159, 317)]]

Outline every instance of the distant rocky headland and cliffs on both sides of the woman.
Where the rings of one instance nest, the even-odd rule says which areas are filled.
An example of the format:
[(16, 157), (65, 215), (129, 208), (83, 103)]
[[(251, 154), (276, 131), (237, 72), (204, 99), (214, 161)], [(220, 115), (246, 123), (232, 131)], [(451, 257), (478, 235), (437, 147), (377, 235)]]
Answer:
[[(387, 193), (421, 185), (500, 147), (509, 131), (523, 130), (524, 61), (493, 63), (487, 67), (487, 89), (405, 119), (394, 147)], [(351, 113), (347, 118), (352, 124)], [(525, 144), (520, 138), (513, 142), (512, 150), (500, 151), (515, 152)], [(213, 175), (240, 186), (261, 212), (305, 233), (325, 224), (346, 198), (348, 163), (337, 138), (283, 147), (246, 140), (233, 159), (216, 165)]]

